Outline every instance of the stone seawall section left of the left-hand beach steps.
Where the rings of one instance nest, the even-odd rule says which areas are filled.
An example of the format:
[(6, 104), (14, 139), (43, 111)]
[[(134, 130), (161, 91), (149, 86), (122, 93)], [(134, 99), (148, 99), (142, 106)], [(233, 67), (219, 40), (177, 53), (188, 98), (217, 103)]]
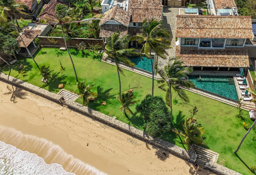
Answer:
[(14, 78), (12, 76), (9, 76), (3, 72), (0, 72), (0, 80), (8, 83), (8, 84), (12, 84), (14, 86), (17, 86), (19, 88), (25, 89), (29, 92), (32, 92), (36, 95), (42, 96), (44, 98), (47, 98), (51, 101), (57, 102), (57, 103), (61, 103), (61, 100), (63, 99), (62, 96), (57, 95), (53, 92), (50, 92), (48, 90), (45, 90), (43, 88), (39, 88), (35, 85), (32, 85), (30, 83), (27, 83), (25, 81), (19, 80), (17, 78)]

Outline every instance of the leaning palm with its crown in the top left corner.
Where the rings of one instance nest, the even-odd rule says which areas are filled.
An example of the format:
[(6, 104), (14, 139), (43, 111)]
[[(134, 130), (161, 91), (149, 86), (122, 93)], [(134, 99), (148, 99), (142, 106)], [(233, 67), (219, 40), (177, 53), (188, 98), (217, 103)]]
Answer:
[[(16, 18), (16, 13), (21, 13), (21, 14), (27, 14), (25, 12), (23, 12), (25, 9), (25, 7), (27, 7), (25, 4), (23, 3), (16, 3), (15, 0), (1, 0), (0, 1), (0, 13), (1, 13), (1, 19), (7, 21), (7, 17), (10, 17), (12, 20), (12, 24), (14, 26), (14, 28), (16, 29), (17, 34), (19, 35), (23, 45), (25, 46), (25, 48), (28, 51), (28, 54), (30, 55), (30, 57), (32, 57), (33, 61), (35, 62), (37, 68), (40, 70), (39, 66), (37, 65), (33, 55), (30, 53), (30, 51), (28, 50), (28, 47), (25, 45), (23, 39), (20, 36), (20, 33), (14, 23), (13, 20), (13, 16)], [(17, 23), (18, 24), (18, 23)]]

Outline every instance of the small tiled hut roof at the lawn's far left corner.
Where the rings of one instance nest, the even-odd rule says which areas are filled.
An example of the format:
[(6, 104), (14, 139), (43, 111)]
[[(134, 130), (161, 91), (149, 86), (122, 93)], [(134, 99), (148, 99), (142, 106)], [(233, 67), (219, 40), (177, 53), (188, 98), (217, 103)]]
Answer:
[[(41, 34), (41, 32), (41, 30), (25, 30), (24, 34), (21, 35), (21, 38), (28, 47), (28, 45), (36, 38), (37, 35)], [(20, 47), (25, 47), (20, 38), (17, 40), (17, 42), (19, 43)]]

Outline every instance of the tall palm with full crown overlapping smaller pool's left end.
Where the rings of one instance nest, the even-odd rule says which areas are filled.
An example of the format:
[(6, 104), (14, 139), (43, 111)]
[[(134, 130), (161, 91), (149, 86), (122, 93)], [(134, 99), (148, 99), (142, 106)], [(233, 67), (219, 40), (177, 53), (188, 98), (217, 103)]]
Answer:
[(119, 63), (123, 63), (127, 66), (135, 66), (134, 63), (132, 63), (132, 61), (127, 56), (135, 56), (139, 54), (134, 48), (125, 49), (127, 44), (130, 42), (129, 35), (124, 35), (120, 38), (119, 36), (120, 32), (114, 32), (106, 40), (107, 45), (105, 46), (105, 49), (107, 50), (106, 53), (108, 54), (108, 56), (105, 58), (105, 61), (107, 61), (107, 59), (113, 59), (116, 63), (116, 69), (119, 79), (119, 98), (121, 98), (121, 81), (119, 72), (124, 75), (124, 71), (119, 67)]

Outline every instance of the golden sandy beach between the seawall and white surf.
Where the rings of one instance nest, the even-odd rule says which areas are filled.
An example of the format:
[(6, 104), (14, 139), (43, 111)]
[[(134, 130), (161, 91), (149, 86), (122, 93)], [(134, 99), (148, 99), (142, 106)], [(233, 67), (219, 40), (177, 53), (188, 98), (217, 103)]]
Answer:
[(35, 153), (47, 164), (60, 164), (67, 172), (85, 175), (88, 169), (95, 171), (92, 166), (108, 175), (213, 175), (20, 88), (0, 81), (0, 90), (0, 141)]

